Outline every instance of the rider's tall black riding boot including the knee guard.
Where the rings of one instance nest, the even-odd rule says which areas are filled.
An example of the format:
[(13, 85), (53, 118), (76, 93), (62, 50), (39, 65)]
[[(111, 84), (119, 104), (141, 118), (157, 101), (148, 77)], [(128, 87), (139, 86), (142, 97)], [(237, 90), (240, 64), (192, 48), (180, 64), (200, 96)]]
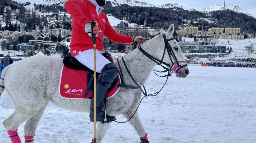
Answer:
[[(104, 122), (105, 112), (101, 110), (107, 90), (118, 77), (118, 70), (115, 64), (106, 64), (101, 75), (98, 77), (96, 85), (96, 121)], [(106, 122), (115, 121), (114, 116), (106, 115)], [(94, 122), (94, 97), (91, 100), (90, 121)]]

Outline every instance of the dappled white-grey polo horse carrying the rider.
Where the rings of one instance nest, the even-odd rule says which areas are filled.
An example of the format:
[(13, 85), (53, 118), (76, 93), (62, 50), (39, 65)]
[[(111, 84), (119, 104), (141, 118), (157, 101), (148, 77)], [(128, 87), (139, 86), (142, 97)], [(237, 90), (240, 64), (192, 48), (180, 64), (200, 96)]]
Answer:
[[(141, 45), (141, 48), (160, 61), (164, 55), (163, 62), (169, 65), (172, 65), (173, 62), (185, 61), (177, 41), (173, 39), (173, 32), (173, 24), (169, 27), (168, 32), (164, 32), (161, 29), (161, 34), (165, 34), (167, 39), (171, 39), (168, 43), (173, 49), (173, 54), (175, 54), (177, 61), (173, 56), (170, 59), (167, 51), (164, 52), (165, 42), (163, 35), (158, 35), (148, 40)], [(156, 65), (155, 62), (142, 54), (138, 48), (125, 55), (124, 60), (138, 85), (145, 83)], [(136, 86), (128, 75), (124, 62), (122, 60), (119, 61), (125, 83)], [(115, 63), (117, 63), (116, 59)], [(187, 64), (185, 62), (181, 63), (180, 66)], [(15, 131), (21, 123), (26, 121), (24, 126), (25, 136), (33, 136), (49, 102), (65, 109), (89, 112), (90, 100), (64, 99), (59, 96), (58, 90), (62, 65), (63, 62), (60, 58), (34, 56), (9, 65), (3, 70), (1, 77), (4, 80), (1, 80), (1, 85), (5, 87), (0, 88), (0, 93), (4, 92), (5, 89), (16, 107), (13, 114), (3, 122), (7, 131)], [(173, 69), (171, 68), (171, 70)], [(181, 68), (181, 71), (176, 73), (176, 76), (185, 78), (188, 73), (189, 70), (186, 66)], [(123, 114), (129, 119), (138, 106), (141, 93), (140, 89), (121, 88), (115, 96), (106, 101), (106, 113), (111, 116)], [(145, 136), (146, 132), (139, 119), (138, 111), (129, 122), (135, 128), (139, 137)], [(97, 143), (101, 143), (110, 124), (97, 123)]]

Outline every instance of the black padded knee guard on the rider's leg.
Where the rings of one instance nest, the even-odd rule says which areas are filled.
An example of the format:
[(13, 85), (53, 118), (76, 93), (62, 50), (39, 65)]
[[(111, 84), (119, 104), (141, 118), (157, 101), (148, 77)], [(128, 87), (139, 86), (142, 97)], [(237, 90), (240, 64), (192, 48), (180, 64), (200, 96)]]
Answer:
[(111, 84), (118, 78), (118, 69), (116, 68), (115, 64), (106, 64), (102, 72), (99, 76), (99, 81), (105, 87), (110, 87)]

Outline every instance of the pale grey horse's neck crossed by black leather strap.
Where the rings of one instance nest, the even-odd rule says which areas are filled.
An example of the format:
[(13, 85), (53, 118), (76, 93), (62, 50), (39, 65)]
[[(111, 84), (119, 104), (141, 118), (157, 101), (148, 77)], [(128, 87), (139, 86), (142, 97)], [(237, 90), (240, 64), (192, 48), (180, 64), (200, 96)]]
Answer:
[[(148, 54), (155, 56), (157, 49), (157, 37), (145, 42), (141, 45), (144, 51)], [(147, 56), (141, 53), (141, 51), (136, 48), (131, 53), (124, 56), (124, 60), (127, 64), (127, 67), (133, 76), (133, 78), (138, 82), (138, 84), (144, 84), (149, 76), (150, 72), (153, 70), (156, 65), (155, 62), (150, 60)], [(129, 76), (129, 75), (128, 75)]]

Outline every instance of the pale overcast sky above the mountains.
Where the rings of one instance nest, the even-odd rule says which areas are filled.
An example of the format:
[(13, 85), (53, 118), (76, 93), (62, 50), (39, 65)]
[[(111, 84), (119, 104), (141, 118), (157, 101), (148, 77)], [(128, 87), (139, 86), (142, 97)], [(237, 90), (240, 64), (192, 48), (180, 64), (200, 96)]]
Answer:
[[(143, 1), (143, 0), (142, 0)], [(226, 5), (236, 5), (246, 12), (249, 12), (254, 17), (256, 17), (256, 0), (225, 0)], [(167, 4), (167, 3), (177, 3), (186, 8), (194, 8), (201, 11), (205, 6), (210, 4), (224, 5), (224, 0), (147, 0), (150, 4)]]

